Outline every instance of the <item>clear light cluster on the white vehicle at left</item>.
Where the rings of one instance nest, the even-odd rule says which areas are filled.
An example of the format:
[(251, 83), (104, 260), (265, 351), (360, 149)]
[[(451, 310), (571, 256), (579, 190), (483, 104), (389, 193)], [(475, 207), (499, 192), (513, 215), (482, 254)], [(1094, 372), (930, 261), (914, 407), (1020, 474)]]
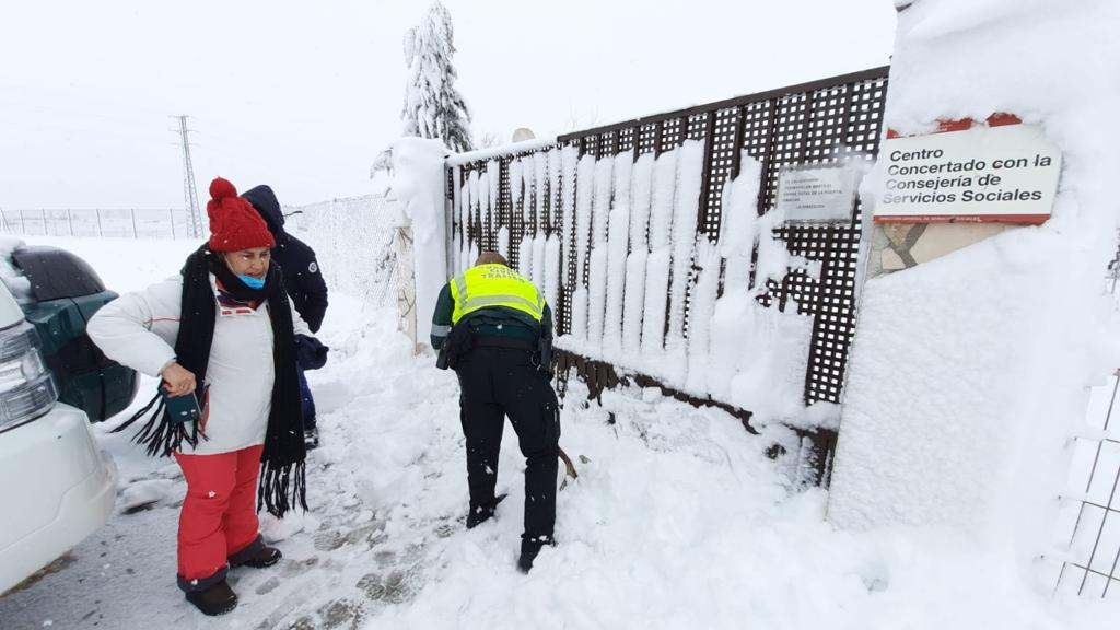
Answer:
[(27, 322), (0, 331), (0, 432), (38, 418), (58, 400), (40, 346)]

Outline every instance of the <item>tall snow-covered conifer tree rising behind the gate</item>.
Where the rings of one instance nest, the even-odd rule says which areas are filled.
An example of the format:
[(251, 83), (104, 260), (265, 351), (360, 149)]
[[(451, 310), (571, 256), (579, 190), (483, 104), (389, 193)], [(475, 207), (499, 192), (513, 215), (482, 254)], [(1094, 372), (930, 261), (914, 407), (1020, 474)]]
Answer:
[(423, 22), (404, 34), (404, 63), (409, 66), (404, 90), (405, 136), (439, 138), (452, 151), (469, 151), (470, 110), (455, 89), (458, 76), (451, 13), (439, 0), (432, 2)]

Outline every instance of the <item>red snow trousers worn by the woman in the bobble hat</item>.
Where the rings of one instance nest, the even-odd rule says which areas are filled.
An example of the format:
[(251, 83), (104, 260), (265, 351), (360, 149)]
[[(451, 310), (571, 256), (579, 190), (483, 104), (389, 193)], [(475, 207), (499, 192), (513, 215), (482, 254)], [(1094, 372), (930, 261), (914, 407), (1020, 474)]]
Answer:
[(179, 512), (180, 585), (224, 576), (230, 556), (256, 543), (256, 478), (263, 448), (175, 454), (187, 480), (187, 497)]

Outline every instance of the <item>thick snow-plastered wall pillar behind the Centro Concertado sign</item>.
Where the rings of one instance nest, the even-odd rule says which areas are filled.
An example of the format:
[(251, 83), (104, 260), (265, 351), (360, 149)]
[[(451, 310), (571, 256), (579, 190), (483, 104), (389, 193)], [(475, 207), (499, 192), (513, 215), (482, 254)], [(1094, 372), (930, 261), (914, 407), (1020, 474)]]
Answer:
[[(1117, 24), (1116, 2), (976, 0), (965, 10), (918, 0), (899, 12), (883, 131), (927, 142), (953, 121), (954, 135), (976, 124), (970, 137), (990, 139), (997, 127), (984, 121), (1017, 114), (1060, 150), (1061, 183), (1042, 172), (1011, 186), (943, 180), (936, 192), (946, 198), (931, 204), (996, 193), (1002, 212), (1021, 212), (1032, 191), (1054, 193), (1038, 225), (876, 228), (880, 266), (862, 290), (829, 495), (837, 526), (956, 531), (965, 553), (1030, 582), (1039, 569), (1056, 573), (1061, 562), (1048, 558), (1076, 552), (1053, 546), (1057, 497), (1084, 495), (1064, 488), (1071, 436), (1084, 430), (1088, 388), (1120, 364), (1120, 325), (1107, 321), (1114, 305), (1100, 287), (1120, 223), (1108, 184), (1120, 173), (1110, 111), (1120, 85), (1101, 80), (1120, 67), (1120, 48), (1100, 45)], [(992, 71), (979, 59), (1014, 62)], [(959, 168), (980, 145), (937, 136), (961, 142), (958, 157), (914, 156), (914, 167)], [(1018, 140), (1005, 152), (1035, 146)], [(887, 212), (895, 192), (930, 192), (892, 182), (898, 173), (883, 163), (899, 159), (893, 154), (906, 156), (885, 148), (865, 180), (865, 213), (897, 214)], [(1030, 150), (1032, 166), (1039, 155)]]

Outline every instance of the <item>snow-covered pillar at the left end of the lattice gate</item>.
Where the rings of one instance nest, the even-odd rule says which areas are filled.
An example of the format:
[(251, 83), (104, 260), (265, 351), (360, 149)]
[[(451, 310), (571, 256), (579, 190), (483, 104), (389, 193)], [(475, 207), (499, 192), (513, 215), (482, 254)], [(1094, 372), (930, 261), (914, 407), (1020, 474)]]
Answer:
[[(444, 195), (447, 149), (439, 140), (401, 138), (393, 142), (392, 151), (392, 191), (412, 231), (411, 267), (416, 278), (413, 316), (416, 350), (419, 352), (431, 334), (436, 298), (447, 281), (447, 207)], [(399, 272), (408, 276), (405, 269), (399, 268)]]

